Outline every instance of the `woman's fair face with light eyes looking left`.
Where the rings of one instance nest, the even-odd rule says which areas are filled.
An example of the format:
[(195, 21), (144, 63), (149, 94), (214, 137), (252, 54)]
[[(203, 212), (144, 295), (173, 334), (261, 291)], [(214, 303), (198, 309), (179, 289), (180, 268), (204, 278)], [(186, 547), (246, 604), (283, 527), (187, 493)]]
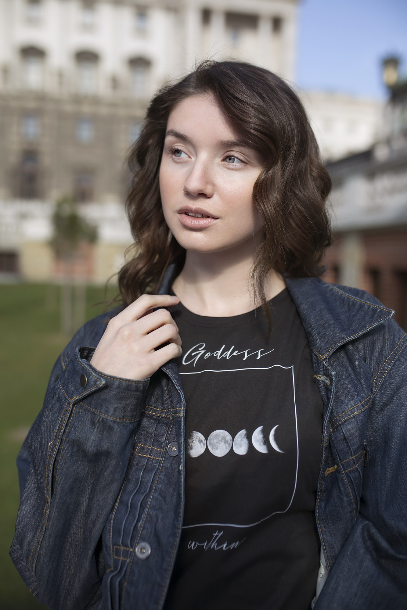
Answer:
[(257, 151), (232, 129), (211, 95), (180, 102), (168, 118), (160, 165), (162, 209), (186, 250), (214, 253), (263, 239), (253, 203)]

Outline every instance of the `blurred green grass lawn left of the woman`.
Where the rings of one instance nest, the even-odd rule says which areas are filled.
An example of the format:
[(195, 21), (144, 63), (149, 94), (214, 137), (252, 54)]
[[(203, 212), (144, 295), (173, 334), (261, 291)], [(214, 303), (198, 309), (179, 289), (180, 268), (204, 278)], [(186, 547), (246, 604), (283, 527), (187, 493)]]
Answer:
[[(88, 287), (86, 319), (111, 309), (103, 288)], [(0, 607), (2, 610), (46, 608), (29, 593), (16, 571), (9, 547), (19, 491), (15, 459), (27, 430), (40, 411), (49, 374), (70, 337), (60, 332), (59, 287), (40, 284), (0, 285), (1, 504)]]

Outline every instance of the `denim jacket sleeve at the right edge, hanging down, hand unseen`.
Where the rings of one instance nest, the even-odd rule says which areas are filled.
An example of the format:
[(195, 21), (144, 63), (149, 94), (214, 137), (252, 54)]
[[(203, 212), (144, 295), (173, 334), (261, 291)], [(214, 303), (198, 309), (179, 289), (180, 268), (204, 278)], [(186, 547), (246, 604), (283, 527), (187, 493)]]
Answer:
[(359, 515), (315, 610), (407, 608), (407, 336), (402, 335), (372, 379)]

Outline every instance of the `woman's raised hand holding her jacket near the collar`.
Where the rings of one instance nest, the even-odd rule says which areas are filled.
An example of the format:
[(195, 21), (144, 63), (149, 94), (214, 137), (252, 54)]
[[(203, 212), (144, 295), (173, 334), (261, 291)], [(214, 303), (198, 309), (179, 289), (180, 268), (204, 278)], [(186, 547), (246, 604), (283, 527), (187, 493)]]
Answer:
[[(178, 296), (142, 295), (112, 318), (90, 364), (106, 375), (146, 379), (160, 366), (181, 356), (178, 326), (167, 309)], [(168, 343), (157, 350), (162, 343)]]

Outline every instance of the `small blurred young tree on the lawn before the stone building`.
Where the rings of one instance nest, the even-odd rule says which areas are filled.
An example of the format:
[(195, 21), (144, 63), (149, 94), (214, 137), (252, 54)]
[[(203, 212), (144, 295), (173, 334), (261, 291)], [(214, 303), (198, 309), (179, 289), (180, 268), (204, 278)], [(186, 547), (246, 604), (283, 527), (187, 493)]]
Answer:
[[(50, 244), (62, 266), (60, 298), (62, 332), (71, 336), (76, 327), (81, 326), (85, 321), (85, 278), (78, 278), (74, 273), (78, 247), (84, 242), (96, 242), (98, 234), (96, 227), (80, 215), (76, 201), (70, 197), (63, 197), (57, 201), (52, 224), (54, 231)], [(75, 285), (74, 304), (73, 284)]]

